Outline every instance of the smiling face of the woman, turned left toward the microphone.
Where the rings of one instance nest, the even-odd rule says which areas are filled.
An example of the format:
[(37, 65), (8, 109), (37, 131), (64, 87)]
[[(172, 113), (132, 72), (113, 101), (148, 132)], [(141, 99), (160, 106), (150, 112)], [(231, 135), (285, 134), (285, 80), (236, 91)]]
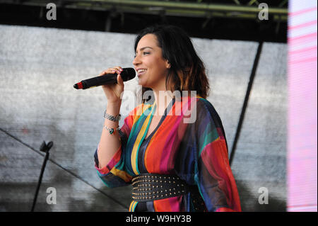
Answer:
[(163, 59), (155, 35), (147, 34), (139, 40), (133, 64), (138, 73), (139, 85), (153, 90), (165, 90), (165, 77), (170, 64)]

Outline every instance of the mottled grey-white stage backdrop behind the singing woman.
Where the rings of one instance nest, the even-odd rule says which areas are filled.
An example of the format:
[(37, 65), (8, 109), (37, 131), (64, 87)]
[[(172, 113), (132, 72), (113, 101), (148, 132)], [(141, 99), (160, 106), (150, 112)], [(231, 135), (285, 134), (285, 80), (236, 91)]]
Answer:
[[(43, 140), (54, 146), (36, 211), (128, 209), (131, 187), (107, 188), (94, 167), (107, 99), (100, 87), (76, 90), (73, 84), (107, 67), (133, 67), (134, 38), (0, 26), (0, 211), (31, 209)], [(223, 120), (231, 149), (259, 43), (198, 38), (193, 43), (206, 64), (208, 100)], [(243, 211), (285, 210), (286, 57), (287, 45), (263, 44), (232, 161)], [(136, 79), (127, 81), (123, 116), (136, 105), (136, 91)], [(56, 204), (47, 202), (52, 188)]]

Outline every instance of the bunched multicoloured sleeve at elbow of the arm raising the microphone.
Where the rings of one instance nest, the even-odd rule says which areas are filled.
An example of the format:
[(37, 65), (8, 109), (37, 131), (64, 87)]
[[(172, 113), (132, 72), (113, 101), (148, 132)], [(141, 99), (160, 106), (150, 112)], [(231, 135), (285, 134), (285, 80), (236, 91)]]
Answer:
[(126, 147), (133, 120), (133, 115), (131, 115), (131, 113), (124, 119), (124, 125), (122, 125), (122, 128), (119, 130), (121, 145), (110, 162), (102, 169), (98, 167), (98, 149), (95, 151), (95, 169), (97, 169), (98, 176), (100, 176), (100, 179), (102, 179), (107, 187), (114, 188), (126, 186), (131, 182), (131, 176), (126, 172), (124, 167), (124, 148)]

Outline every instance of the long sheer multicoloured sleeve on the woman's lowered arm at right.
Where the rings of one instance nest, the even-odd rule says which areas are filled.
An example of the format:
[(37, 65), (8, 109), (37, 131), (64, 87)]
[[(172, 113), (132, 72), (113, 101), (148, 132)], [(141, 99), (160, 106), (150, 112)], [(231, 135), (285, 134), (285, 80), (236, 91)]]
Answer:
[(206, 99), (197, 101), (195, 178), (208, 211), (241, 211), (240, 198), (228, 161), (222, 122)]

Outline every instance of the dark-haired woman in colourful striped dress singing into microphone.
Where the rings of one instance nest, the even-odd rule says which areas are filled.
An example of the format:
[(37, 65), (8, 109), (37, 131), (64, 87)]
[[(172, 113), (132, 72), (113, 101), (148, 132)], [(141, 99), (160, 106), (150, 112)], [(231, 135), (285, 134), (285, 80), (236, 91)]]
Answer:
[(143, 99), (119, 130), (122, 67), (100, 74), (119, 74), (117, 84), (102, 86), (100, 178), (109, 187), (133, 185), (129, 211), (241, 211), (225, 132), (206, 100), (208, 79), (191, 40), (175, 26), (155, 26), (139, 33), (134, 48), (142, 94), (154, 98)]

